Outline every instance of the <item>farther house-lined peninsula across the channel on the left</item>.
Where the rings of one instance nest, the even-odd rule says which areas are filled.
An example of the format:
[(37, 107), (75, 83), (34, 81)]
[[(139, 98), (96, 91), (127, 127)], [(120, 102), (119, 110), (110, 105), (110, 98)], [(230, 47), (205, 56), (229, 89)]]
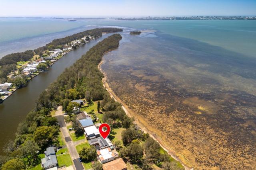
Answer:
[(58, 59), (92, 39), (102, 36), (103, 32), (117, 32), (122, 29), (100, 28), (86, 30), (68, 37), (54, 39), (51, 43), (35, 50), (12, 53), (0, 59), (0, 103), (29, 80), (44, 72)]

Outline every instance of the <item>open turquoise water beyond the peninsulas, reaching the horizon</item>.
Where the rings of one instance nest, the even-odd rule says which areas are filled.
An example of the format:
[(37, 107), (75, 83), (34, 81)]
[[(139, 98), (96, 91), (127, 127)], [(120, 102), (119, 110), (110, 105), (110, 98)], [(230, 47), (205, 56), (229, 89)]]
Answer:
[[(8, 43), (21, 41), (28, 42), (29, 38), (39, 37), (40, 42), (46, 43), (51, 37), (61, 33), (60, 36), (81, 31), (86, 25), (115, 25), (136, 29), (156, 29), (162, 33), (190, 38), (211, 45), (223, 47), (230, 51), (242, 53), (248, 57), (256, 54), (256, 21), (249, 20), (170, 20), (170, 21), (121, 21), (121, 20), (67, 20), (52, 19), (0, 19), (0, 56), (2, 51), (7, 54)], [(5, 42), (5, 43), (3, 43)], [(8, 43), (6, 43), (8, 42)], [(30, 46), (36, 47), (31, 43)], [(4, 46), (4, 49), (1, 49)], [(20, 45), (18, 45), (20, 46)], [(26, 46), (26, 45), (25, 45)], [(22, 50), (27, 49), (22, 48)], [(10, 51), (20, 51), (21, 47), (12, 46)]]

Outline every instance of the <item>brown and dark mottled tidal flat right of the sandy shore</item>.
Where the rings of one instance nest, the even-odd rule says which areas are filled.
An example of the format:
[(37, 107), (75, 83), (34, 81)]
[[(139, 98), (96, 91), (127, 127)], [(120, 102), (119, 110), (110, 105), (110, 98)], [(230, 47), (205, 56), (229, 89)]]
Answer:
[(122, 36), (101, 67), (135, 117), (187, 166), (256, 169), (255, 58), (161, 33)]

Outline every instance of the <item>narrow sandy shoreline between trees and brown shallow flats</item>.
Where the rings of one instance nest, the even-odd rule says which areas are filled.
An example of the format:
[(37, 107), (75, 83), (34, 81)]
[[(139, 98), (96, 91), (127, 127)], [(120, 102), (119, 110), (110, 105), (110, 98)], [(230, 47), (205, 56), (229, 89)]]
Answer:
[(130, 110), (128, 108), (128, 106), (126, 104), (124, 104), (112, 91), (112, 89), (109, 87), (108, 83), (107, 83), (107, 76), (106, 74), (102, 71), (101, 65), (102, 65), (103, 61), (101, 61), (98, 64), (98, 69), (104, 74), (104, 78), (102, 78), (102, 82), (103, 82), (103, 86), (104, 88), (108, 91), (108, 93), (110, 94), (111, 98), (114, 98), (114, 100), (116, 102), (119, 102), (122, 105), (122, 108), (124, 109), (125, 113), (130, 116), (130, 117), (134, 117), (134, 121), (135, 123), (140, 127), (140, 129), (142, 131), (144, 131), (145, 133), (149, 133), (150, 137), (152, 137), (153, 139), (155, 139), (160, 146), (166, 150), (166, 152), (168, 152), (168, 154), (170, 154), (172, 156), (172, 158), (174, 158), (175, 160), (179, 161), (182, 166), (184, 166), (184, 168), (186, 170), (190, 170), (191, 168), (186, 166), (184, 164), (184, 162), (182, 160), (180, 160), (180, 158), (178, 158), (174, 152), (174, 150), (170, 149), (170, 147), (167, 147), (168, 145), (160, 138), (160, 134), (158, 132), (156, 132), (156, 129), (151, 129), (148, 126), (148, 123), (146, 121), (144, 121), (144, 118), (142, 118), (140, 115), (137, 115), (136, 113), (134, 113), (132, 110)]

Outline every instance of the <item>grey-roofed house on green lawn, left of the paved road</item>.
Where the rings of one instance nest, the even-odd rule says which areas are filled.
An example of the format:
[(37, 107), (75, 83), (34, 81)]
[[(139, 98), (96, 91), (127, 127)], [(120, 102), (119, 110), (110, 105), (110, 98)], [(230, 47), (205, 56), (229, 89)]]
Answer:
[(54, 147), (46, 148), (45, 157), (41, 159), (42, 167), (47, 170), (58, 166), (57, 156)]

